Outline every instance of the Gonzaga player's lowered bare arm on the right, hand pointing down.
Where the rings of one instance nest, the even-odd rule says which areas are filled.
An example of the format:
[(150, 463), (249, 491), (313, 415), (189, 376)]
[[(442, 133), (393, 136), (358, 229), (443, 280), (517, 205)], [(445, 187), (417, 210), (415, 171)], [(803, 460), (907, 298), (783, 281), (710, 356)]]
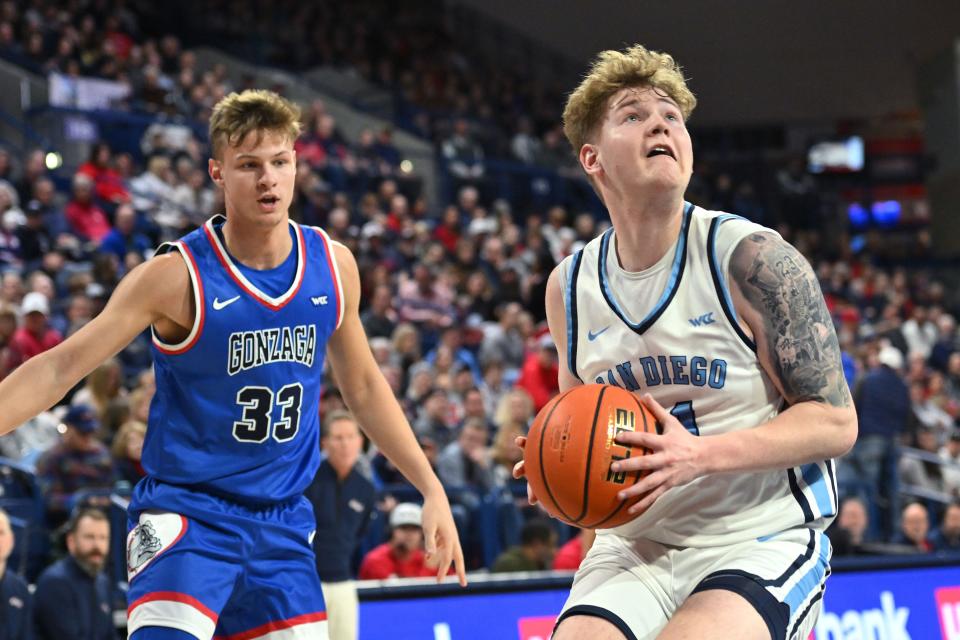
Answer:
[(427, 557), (437, 564), (437, 580), (451, 562), (466, 586), (463, 550), (450, 512), (450, 503), (427, 457), (420, 449), (403, 410), (373, 359), (360, 323), (360, 275), (350, 251), (334, 243), (343, 283), (344, 315), (327, 344), (337, 386), (350, 411), (377, 448), (423, 494), (423, 535)]

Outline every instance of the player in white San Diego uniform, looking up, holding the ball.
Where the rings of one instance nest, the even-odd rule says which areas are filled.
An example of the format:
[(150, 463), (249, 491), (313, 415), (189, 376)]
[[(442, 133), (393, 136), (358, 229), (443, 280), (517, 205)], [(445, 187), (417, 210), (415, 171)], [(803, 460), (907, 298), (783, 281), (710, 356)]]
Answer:
[(796, 249), (684, 202), (695, 104), (669, 55), (634, 46), (564, 111), (613, 224), (548, 282), (560, 390), (624, 387), (661, 430), (617, 436), (649, 450), (613, 465), (648, 474), (620, 493), (641, 515), (597, 532), (554, 640), (805, 640), (829, 575), (832, 459), (857, 433), (839, 345)]

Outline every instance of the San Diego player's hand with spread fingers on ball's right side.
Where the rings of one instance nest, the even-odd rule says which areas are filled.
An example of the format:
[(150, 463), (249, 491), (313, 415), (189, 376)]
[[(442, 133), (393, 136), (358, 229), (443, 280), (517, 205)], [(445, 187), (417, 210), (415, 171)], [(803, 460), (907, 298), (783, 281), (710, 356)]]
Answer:
[(646, 455), (630, 457), (611, 465), (613, 471), (647, 472), (639, 482), (618, 494), (621, 500), (646, 494), (628, 509), (629, 513), (644, 511), (667, 489), (687, 484), (703, 475), (703, 438), (687, 431), (650, 394), (644, 394), (641, 401), (660, 423), (663, 434), (625, 431), (617, 436), (620, 444), (648, 449)]

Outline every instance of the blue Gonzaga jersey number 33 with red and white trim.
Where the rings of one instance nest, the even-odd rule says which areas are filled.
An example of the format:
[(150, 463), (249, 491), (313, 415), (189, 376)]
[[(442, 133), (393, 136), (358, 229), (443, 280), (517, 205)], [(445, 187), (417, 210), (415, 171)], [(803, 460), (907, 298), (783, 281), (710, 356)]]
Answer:
[(319, 466), (323, 359), (343, 318), (330, 238), (290, 223), (296, 275), (279, 296), (227, 253), (222, 216), (162, 251), (179, 251), (196, 305), (179, 344), (154, 333), (157, 391), (143, 466), (161, 482), (243, 504), (289, 500)]

